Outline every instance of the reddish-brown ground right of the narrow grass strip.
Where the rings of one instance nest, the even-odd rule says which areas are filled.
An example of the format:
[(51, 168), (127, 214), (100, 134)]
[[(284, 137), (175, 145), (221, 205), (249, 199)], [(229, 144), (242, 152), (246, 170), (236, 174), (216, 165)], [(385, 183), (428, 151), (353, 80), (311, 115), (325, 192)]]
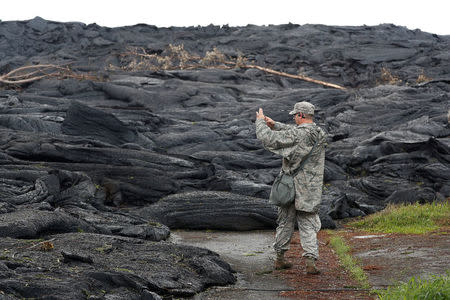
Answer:
[(344, 236), (373, 288), (450, 270), (450, 234), (445, 230), (426, 235), (346, 232)]

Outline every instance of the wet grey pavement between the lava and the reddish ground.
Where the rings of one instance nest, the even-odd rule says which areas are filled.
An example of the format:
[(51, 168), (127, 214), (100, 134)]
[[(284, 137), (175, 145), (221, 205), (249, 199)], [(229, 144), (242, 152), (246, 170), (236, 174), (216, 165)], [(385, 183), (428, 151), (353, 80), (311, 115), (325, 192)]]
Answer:
[(194, 299), (286, 299), (280, 292), (292, 287), (272, 272), (273, 234), (273, 231), (173, 231), (174, 241), (215, 251), (236, 270), (235, 285), (210, 288)]

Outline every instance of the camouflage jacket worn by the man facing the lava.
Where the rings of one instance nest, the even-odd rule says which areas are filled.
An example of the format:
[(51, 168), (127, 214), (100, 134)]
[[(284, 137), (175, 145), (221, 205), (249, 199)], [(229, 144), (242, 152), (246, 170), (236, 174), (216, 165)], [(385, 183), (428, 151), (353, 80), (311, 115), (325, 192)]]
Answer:
[[(256, 137), (264, 148), (283, 157), (282, 170), (291, 174), (307, 158), (294, 178), (295, 208), (317, 212), (322, 199), (326, 133), (315, 123), (285, 125), (275, 122), (271, 130), (262, 119), (256, 120)], [(314, 151), (307, 157), (314, 144)]]

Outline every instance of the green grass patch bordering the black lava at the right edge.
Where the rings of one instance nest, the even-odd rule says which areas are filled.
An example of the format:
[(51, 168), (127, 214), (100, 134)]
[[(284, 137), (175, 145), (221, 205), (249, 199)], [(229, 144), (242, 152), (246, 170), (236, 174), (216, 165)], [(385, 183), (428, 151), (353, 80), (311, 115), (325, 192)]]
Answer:
[(369, 232), (424, 234), (450, 225), (450, 206), (448, 202), (389, 205), (348, 225)]

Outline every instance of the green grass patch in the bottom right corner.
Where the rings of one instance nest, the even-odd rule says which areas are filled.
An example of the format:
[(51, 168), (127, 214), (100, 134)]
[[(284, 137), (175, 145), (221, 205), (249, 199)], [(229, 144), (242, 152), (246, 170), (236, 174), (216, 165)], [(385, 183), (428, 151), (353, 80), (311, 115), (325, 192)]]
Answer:
[(385, 291), (376, 291), (380, 300), (448, 300), (450, 299), (450, 273), (428, 279), (411, 278), (409, 282)]

